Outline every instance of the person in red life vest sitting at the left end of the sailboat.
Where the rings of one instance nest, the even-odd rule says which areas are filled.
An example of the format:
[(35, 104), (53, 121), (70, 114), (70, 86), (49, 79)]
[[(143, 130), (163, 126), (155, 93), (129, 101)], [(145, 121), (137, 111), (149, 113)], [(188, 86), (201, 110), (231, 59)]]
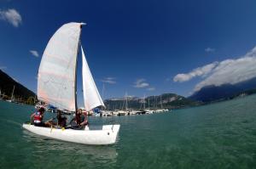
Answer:
[(49, 121), (44, 122), (44, 107), (39, 108), (39, 110), (31, 115), (31, 123), (34, 122), (36, 127), (49, 127)]

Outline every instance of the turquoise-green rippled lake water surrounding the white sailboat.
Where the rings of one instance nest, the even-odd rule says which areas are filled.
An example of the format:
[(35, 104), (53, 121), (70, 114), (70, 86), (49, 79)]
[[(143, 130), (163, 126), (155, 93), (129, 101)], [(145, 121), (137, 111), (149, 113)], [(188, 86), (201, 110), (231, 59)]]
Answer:
[(256, 168), (256, 95), (121, 124), (117, 144), (56, 141), (21, 128), (33, 108), (0, 102), (0, 168)]

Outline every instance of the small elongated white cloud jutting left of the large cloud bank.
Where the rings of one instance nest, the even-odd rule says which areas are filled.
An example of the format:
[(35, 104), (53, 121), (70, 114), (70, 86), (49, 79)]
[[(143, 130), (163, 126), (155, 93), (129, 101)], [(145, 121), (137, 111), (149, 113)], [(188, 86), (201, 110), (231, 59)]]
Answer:
[(192, 70), (186, 74), (177, 74), (176, 76), (174, 76), (173, 81), (187, 82), (196, 76), (207, 76), (207, 74), (209, 74), (216, 67), (216, 65), (218, 65), (218, 62), (213, 62), (212, 64), (198, 67), (195, 70)]

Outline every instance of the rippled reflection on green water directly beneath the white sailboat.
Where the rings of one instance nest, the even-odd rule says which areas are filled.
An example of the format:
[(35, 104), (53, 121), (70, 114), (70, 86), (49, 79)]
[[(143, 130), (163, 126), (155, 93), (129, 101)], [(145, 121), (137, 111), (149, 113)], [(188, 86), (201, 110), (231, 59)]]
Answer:
[[(56, 161), (75, 161), (75, 163), (86, 164), (87, 166), (104, 166), (114, 165), (118, 156), (116, 148), (113, 145), (108, 146), (95, 146), (84, 144), (73, 144), (45, 138), (38, 136), (32, 132), (23, 130), (23, 139), (27, 144), (32, 145), (32, 154), (37, 157), (38, 155), (48, 155), (49, 158), (55, 158)], [(52, 156), (52, 157), (51, 157)]]

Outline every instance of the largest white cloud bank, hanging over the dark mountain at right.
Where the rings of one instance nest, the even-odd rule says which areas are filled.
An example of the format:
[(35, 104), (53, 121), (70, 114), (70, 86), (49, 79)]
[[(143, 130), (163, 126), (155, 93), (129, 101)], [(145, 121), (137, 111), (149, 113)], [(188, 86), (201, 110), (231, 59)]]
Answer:
[[(236, 84), (250, 80), (256, 77), (256, 47), (238, 59), (225, 59), (212, 64), (196, 68), (188, 74), (177, 74), (173, 81), (186, 82), (195, 76), (202, 76), (204, 80), (196, 84), (194, 88), (194, 91), (199, 91), (202, 87), (210, 85), (221, 86), (227, 83)], [(197, 72), (196, 70), (203, 71), (198, 73), (200, 71)]]

